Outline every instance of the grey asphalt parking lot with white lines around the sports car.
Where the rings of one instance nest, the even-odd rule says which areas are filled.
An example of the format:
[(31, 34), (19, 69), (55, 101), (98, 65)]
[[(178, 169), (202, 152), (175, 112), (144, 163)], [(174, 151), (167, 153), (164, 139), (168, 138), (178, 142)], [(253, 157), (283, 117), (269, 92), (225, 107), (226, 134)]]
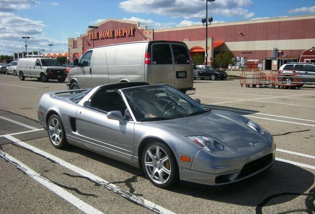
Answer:
[(37, 118), (40, 97), (66, 83), (0, 75), (0, 213), (314, 213), (315, 85), (241, 87), (195, 80), (205, 107), (243, 114), (274, 137), (276, 162), (234, 184), (159, 189), (142, 170), (76, 147), (57, 150)]

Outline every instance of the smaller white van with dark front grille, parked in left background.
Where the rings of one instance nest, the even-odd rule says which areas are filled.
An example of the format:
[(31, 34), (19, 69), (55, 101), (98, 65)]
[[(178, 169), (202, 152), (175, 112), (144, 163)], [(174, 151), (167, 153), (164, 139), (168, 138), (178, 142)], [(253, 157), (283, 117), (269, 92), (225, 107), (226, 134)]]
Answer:
[(30, 77), (43, 82), (48, 82), (50, 79), (64, 82), (67, 78), (65, 67), (62, 67), (59, 61), (53, 58), (19, 58), (16, 70), (20, 80)]

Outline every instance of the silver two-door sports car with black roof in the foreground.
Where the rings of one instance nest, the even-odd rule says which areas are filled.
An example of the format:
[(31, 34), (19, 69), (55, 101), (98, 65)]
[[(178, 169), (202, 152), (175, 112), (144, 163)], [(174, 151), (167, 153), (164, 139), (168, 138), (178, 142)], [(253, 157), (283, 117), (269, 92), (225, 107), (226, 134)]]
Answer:
[(161, 188), (179, 180), (227, 184), (275, 161), (272, 135), (254, 121), (204, 108), (168, 85), (46, 93), (38, 117), (55, 148), (71, 144), (143, 168)]

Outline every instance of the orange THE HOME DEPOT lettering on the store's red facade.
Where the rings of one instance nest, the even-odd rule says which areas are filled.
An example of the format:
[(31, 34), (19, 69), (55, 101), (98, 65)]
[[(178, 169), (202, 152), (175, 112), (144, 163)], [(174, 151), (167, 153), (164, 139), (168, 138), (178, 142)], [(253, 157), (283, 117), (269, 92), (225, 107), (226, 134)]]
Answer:
[(106, 39), (106, 38), (113, 38), (113, 37), (124, 37), (124, 36), (133, 36), (135, 28), (121, 28), (116, 30), (107, 30), (107, 31), (99, 31), (94, 33), (89, 33), (89, 39)]

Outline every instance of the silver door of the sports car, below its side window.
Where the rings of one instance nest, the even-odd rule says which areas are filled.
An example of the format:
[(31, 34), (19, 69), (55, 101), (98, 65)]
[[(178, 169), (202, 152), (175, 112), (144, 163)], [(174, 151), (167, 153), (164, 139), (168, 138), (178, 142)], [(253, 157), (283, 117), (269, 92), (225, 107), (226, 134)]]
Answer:
[(84, 144), (111, 156), (131, 161), (134, 147), (134, 122), (119, 123), (107, 118), (107, 112), (79, 107), (76, 112), (77, 133)]

